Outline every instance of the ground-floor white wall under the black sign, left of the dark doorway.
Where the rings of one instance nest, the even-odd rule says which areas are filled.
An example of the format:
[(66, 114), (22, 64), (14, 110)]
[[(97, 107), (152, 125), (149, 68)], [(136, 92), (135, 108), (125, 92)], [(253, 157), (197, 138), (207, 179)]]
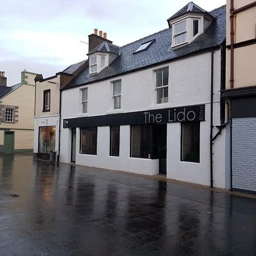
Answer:
[[(152, 160), (142, 158), (130, 158), (130, 126), (120, 127), (119, 156), (109, 155), (110, 127), (98, 127), (97, 155), (85, 155), (79, 153), (80, 129), (76, 129), (76, 131), (76, 164), (97, 168), (106, 168), (110, 170), (135, 172), (137, 174), (158, 174), (158, 159)], [(60, 161), (70, 163), (71, 129), (63, 129), (63, 131), (61, 131), (61, 138), (65, 138), (65, 143), (61, 143), (60, 146)], [(62, 154), (64, 148), (67, 154)]]

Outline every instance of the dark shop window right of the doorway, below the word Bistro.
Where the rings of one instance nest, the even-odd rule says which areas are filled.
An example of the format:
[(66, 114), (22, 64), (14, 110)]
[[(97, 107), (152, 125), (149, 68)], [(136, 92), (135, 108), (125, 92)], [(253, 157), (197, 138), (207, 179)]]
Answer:
[(181, 123), (181, 161), (200, 162), (200, 122)]

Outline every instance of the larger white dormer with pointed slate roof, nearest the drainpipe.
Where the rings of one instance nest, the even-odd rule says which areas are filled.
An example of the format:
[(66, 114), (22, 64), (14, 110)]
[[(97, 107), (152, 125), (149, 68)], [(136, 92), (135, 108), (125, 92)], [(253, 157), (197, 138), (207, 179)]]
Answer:
[(191, 43), (212, 23), (213, 16), (189, 2), (167, 21), (172, 28), (172, 48)]

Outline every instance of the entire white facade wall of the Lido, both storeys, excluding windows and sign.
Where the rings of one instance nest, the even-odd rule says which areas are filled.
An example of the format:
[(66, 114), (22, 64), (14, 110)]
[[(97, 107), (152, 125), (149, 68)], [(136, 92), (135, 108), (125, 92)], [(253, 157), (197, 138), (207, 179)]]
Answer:
[[(214, 52), (214, 116), (213, 125), (220, 125), (220, 50)], [(155, 104), (155, 70), (169, 67), (169, 102)], [(121, 110), (113, 110), (112, 81), (105, 80), (88, 85), (88, 113), (82, 114), (81, 91), (79, 88), (64, 90), (62, 93), (61, 117), (76, 118), (110, 113), (126, 113), (142, 110), (172, 108), (206, 104), (205, 121), (201, 122), (200, 164), (180, 162), (180, 123), (167, 126), (167, 177), (204, 185), (210, 184), (210, 73), (211, 53), (188, 57), (148, 68), (129, 75), (116, 77), (122, 81)], [(71, 161), (71, 129), (61, 131), (61, 162)], [(218, 129), (214, 129), (213, 135)], [(77, 129), (79, 148), (80, 129)], [(109, 156), (109, 127), (98, 127), (97, 156), (81, 155), (77, 151), (76, 163), (111, 170), (131, 171), (140, 174), (158, 174), (158, 160), (130, 158), (130, 127), (121, 126), (120, 156)], [(68, 138), (68, 142), (67, 142)], [(227, 187), (228, 152), (225, 150), (225, 130), (214, 142), (214, 186)]]

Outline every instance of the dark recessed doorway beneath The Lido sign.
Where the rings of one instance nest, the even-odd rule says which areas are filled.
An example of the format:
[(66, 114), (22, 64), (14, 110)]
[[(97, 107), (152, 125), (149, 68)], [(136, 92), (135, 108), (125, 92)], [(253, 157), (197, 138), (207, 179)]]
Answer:
[(167, 125), (154, 125), (153, 126), (153, 145), (154, 156), (159, 159), (159, 174), (165, 174), (167, 172)]

